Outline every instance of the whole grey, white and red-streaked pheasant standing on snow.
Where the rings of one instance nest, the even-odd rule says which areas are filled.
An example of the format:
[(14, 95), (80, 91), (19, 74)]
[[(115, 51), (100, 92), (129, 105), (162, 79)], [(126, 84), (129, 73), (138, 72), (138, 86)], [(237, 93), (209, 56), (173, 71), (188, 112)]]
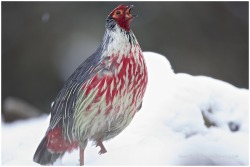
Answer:
[(148, 72), (130, 28), (137, 17), (133, 7), (120, 4), (108, 15), (100, 46), (64, 83), (34, 162), (53, 165), (66, 152), (79, 149), (82, 166), (89, 141), (100, 147), (99, 154), (106, 153), (103, 141), (120, 134), (141, 109)]

